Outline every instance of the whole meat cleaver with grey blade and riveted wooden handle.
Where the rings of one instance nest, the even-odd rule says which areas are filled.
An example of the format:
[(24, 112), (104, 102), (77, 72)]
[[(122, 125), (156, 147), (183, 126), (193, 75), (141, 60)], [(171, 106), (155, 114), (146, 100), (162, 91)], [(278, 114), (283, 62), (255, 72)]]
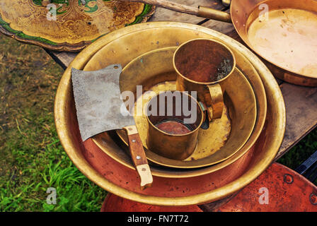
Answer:
[(74, 98), (81, 138), (86, 141), (98, 133), (125, 129), (141, 188), (151, 186), (153, 177), (146, 160), (134, 117), (125, 107), (120, 93), (122, 66), (113, 64), (98, 71), (71, 69)]

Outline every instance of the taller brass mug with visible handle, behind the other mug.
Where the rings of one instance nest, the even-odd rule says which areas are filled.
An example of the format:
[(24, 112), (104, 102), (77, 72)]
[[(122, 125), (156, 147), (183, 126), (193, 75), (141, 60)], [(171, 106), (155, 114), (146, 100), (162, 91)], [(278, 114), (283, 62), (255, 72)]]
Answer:
[(173, 66), (178, 73), (176, 89), (197, 92), (198, 100), (207, 109), (209, 121), (221, 118), (224, 97), (220, 84), (234, 72), (233, 52), (216, 40), (190, 40), (176, 49)]

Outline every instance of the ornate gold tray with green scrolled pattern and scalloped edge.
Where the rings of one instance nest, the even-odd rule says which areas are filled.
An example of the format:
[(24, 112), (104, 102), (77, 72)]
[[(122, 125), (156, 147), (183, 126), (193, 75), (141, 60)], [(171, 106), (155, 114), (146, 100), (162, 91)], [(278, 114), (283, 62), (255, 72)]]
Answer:
[[(114, 0), (1, 0), (0, 31), (18, 41), (77, 52), (126, 25), (143, 23), (155, 6)], [(43, 5), (42, 5), (43, 4)]]

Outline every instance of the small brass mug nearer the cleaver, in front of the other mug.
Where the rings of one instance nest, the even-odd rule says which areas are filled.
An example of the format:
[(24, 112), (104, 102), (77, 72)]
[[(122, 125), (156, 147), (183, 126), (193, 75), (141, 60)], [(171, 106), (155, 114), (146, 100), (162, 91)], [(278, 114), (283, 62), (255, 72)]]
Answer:
[(146, 105), (146, 119), (149, 150), (173, 160), (192, 155), (203, 121), (202, 107), (194, 97), (179, 91), (159, 93)]

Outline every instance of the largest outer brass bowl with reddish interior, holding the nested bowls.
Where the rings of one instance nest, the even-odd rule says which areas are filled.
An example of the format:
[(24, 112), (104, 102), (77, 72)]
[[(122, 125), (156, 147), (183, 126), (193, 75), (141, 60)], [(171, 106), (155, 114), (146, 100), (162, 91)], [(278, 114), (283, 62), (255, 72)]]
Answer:
[[(82, 143), (71, 89), (71, 67), (93, 70), (101, 69), (108, 64), (113, 64), (113, 62), (119, 62), (122, 66), (125, 66), (129, 61), (145, 52), (178, 45), (195, 37), (212, 37), (222, 40), (233, 49), (235, 54), (241, 53), (245, 56), (241, 58), (241, 61), (245, 62), (244, 64), (252, 62), (254, 68), (251, 65), (243, 70), (241, 69), (241, 71), (245, 75), (250, 75), (248, 79), (252, 81), (251, 84), (260, 105), (258, 109), (261, 113), (260, 117), (257, 117), (253, 134), (256, 132), (259, 135), (263, 129), (263, 119), (265, 119), (266, 112), (263, 111), (263, 106), (266, 107), (266, 101), (263, 98), (265, 93), (257, 91), (258, 89), (261, 90), (263, 85), (267, 93), (267, 123), (265, 129), (255, 139), (254, 135), (251, 135), (250, 143), (248, 141), (236, 155), (229, 158), (230, 165), (218, 167), (223, 163), (221, 162), (217, 164), (217, 169), (212, 166), (212, 171), (209, 172), (206, 172), (209, 167), (198, 171), (191, 169), (188, 174), (197, 177), (188, 177), (188, 174), (184, 174), (183, 170), (178, 175), (175, 169), (170, 170), (170, 174), (168, 174), (166, 170), (159, 168), (154, 170), (154, 167), (152, 167), (152, 172), (155, 171), (154, 174), (156, 175), (165, 174), (170, 177), (183, 177), (185, 175), (187, 178), (162, 178), (154, 175), (153, 186), (142, 191), (139, 189), (139, 180), (134, 169), (129, 169), (129, 167), (113, 160), (112, 157), (96, 147), (93, 141), (88, 140)], [(244, 64), (241, 64), (241, 66)], [(255, 71), (255, 73), (251, 71)], [(260, 85), (256, 79), (258, 78), (257, 72), (263, 81)], [(255, 85), (258, 85), (257, 88), (255, 88)], [(243, 47), (242, 44), (219, 32), (202, 28), (199, 25), (175, 22), (144, 23), (122, 28), (122, 30), (105, 35), (105, 37), (84, 49), (65, 71), (59, 83), (54, 114), (57, 132), (64, 149), (74, 165), (86, 177), (103, 189), (122, 198), (159, 206), (188, 206), (207, 203), (217, 201), (241, 190), (258, 177), (274, 159), (284, 137), (286, 119), (284, 101), (279, 86), (272, 73), (258, 57), (246, 47)], [(258, 121), (261, 122), (260, 125), (262, 126), (258, 125)], [(110, 133), (105, 142), (108, 142), (108, 148), (114, 148), (122, 155), (126, 155), (117, 146)], [(216, 171), (213, 171), (214, 169)], [(202, 170), (205, 171), (202, 172)]]

